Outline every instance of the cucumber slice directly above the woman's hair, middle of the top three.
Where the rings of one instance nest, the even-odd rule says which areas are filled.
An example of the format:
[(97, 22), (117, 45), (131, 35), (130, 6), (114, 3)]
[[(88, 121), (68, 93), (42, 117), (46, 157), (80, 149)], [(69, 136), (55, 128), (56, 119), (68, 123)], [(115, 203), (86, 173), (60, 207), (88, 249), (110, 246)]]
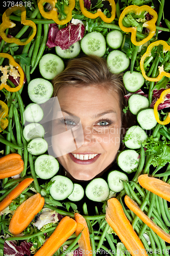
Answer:
[(86, 55), (102, 57), (106, 52), (105, 37), (100, 32), (90, 32), (81, 40), (81, 48)]

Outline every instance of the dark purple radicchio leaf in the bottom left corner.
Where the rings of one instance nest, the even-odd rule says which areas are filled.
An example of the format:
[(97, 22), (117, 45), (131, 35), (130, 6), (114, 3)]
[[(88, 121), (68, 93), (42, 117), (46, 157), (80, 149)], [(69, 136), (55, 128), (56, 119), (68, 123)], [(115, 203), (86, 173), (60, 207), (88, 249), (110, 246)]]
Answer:
[(30, 256), (31, 247), (32, 243), (27, 243), (25, 241), (21, 242), (20, 245), (16, 245), (13, 241), (6, 240), (4, 243), (4, 256)]

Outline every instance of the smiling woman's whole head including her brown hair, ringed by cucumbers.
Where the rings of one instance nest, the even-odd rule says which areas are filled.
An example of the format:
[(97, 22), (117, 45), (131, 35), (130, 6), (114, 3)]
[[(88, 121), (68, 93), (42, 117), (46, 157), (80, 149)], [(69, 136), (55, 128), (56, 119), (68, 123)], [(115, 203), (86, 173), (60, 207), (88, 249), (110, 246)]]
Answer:
[[(99, 177), (114, 162), (129, 126), (122, 77), (112, 74), (103, 58), (89, 55), (70, 60), (52, 83), (61, 108), (54, 111), (52, 129), (57, 160), (72, 179)], [(63, 145), (70, 148), (67, 154), (58, 153)]]

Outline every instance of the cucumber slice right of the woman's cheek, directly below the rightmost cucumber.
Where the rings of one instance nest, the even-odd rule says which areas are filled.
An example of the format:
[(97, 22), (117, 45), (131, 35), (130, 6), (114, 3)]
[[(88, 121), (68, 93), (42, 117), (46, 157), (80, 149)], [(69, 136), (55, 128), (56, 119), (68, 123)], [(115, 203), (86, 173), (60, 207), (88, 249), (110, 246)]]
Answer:
[(147, 140), (148, 136), (144, 132), (144, 130), (138, 126), (133, 125), (131, 126), (124, 138), (124, 143), (126, 147), (132, 148), (133, 150), (141, 147), (141, 142)]

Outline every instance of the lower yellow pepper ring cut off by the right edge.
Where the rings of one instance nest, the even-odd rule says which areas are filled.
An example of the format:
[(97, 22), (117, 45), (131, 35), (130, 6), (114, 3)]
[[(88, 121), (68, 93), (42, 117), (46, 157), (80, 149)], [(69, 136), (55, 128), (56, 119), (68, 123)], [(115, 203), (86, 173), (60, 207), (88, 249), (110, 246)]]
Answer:
[(163, 103), (164, 100), (165, 100), (165, 96), (170, 93), (170, 89), (166, 89), (164, 90), (161, 95), (160, 95), (160, 98), (156, 101), (155, 105), (154, 105), (154, 115), (155, 115), (155, 118), (157, 120), (158, 123), (160, 124), (168, 124), (170, 122), (170, 112), (168, 113), (166, 119), (164, 121), (160, 121), (159, 119), (159, 115), (158, 115), (158, 106), (160, 103)]

